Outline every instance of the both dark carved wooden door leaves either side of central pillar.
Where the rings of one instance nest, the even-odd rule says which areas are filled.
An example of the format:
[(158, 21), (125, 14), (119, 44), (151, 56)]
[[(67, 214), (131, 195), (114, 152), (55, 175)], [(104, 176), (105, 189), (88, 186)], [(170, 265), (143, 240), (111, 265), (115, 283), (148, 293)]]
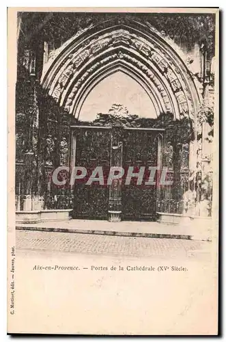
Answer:
[[(150, 166), (158, 163), (158, 131), (130, 130), (123, 132), (122, 166), (125, 176), (122, 181), (122, 218), (124, 220), (155, 220), (156, 187), (145, 185)], [(111, 167), (111, 130), (79, 128), (76, 132), (76, 166), (87, 169), (87, 177), (74, 189), (74, 218), (107, 220), (109, 211), (109, 186), (107, 178)], [(91, 172), (102, 166), (104, 185), (98, 182), (85, 185)], [(141, 185), (133, 177), (125, 185), (128, 168), (138, 172), (145, 167)], [(118, 198), (115, 198), (118, 201)], [(121, 202), (121, 200), (120, 200)], [(120, 209), (119, 209), (120, 210)]]

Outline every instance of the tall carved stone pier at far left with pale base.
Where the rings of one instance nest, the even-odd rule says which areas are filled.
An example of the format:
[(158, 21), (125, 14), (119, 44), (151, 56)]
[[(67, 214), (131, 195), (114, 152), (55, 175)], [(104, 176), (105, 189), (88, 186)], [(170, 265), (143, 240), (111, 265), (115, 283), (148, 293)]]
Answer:
[[(21, 41), (19, 45), (16, 82), (16, 170), (20, 172), (16, 177), (18, 179), (16, 186), (20, 204), (17, 209), (31, 211), (42, 209), (42, 200), (39, 196), (41, 163), (38, 152), (40, 123), (38, 96), (40, 86), (36, 73), (37, 44), (33, 41), (26, 43)], [(22, 127), (23, 131), (20, 129)]]

